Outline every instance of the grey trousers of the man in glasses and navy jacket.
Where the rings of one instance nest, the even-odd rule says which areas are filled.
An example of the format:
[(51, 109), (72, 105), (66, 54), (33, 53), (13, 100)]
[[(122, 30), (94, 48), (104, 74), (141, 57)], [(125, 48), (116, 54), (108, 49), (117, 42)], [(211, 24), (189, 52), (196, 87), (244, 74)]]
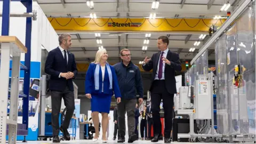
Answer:
[(127, 112), (127, 124), (129, 135), (134, 134), (135, 130), (135, 106), (137, 99), (122, 99), (117, 104), (118, 111), (118, 133), (121, 137), (125, 136), (125, 113)]

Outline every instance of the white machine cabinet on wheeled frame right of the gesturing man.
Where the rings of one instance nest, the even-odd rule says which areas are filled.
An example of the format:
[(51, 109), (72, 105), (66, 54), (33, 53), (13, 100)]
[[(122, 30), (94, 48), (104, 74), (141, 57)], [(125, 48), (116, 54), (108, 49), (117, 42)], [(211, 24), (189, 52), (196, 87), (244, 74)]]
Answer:
[[(194, 106), (190, 104), (191, 97), (194, 99)], [(195, 142), (197, 138), (198, 141), (205, 142), (206, 139), (215, 140), (215, 138), (222, 137), (214, 130), (213, 73), (198, 75), (194, 86), (180, 87), (179, 103), (177, 115), (189, 116), (189, 133), (178, 133), (178, 141), (180, 138), (189, 138), (189, 142)], [(190, 107), (191, 109), (188, 109)], [(197, 133), (194, 131), (195, 119), (199, 129)]]

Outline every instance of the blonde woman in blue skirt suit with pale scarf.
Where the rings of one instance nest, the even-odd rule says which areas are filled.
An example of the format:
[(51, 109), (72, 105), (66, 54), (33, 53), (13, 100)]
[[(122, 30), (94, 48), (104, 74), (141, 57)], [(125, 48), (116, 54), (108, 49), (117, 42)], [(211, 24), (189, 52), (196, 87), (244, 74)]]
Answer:
[(102, 141), (107, 142), (106, 131), (112, 95), (115, 93), (117, 103), (121, 102), (115, 69), (107, 63), (107, 59), (106, 49), (98, 50), (95, 61), (90, 63), (85, 78), (85, 95), (91, 99), (92, 121), (95, 127), (93, 142), (99, 137), (99, 113), (102, 115)]

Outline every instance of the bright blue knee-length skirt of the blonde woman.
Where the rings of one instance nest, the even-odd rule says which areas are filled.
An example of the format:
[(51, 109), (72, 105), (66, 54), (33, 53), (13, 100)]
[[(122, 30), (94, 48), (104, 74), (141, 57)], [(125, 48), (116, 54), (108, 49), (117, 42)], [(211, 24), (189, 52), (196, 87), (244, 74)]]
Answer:
[(91, 111), (98, 111), (99, 113), (109, 114), (111, 97), (112, 95), (108, 95), (105, 93), (92, 94)]

